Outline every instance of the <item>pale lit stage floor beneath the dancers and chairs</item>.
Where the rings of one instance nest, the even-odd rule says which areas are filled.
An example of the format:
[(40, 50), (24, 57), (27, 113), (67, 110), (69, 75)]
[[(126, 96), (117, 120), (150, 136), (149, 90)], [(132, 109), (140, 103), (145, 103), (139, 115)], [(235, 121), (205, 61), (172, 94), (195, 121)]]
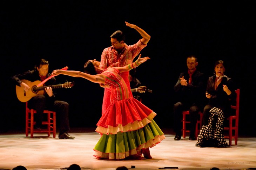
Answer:
[[(229, 148), (200, 148), (196, 141), (186, 139), (174, 141), (169, 129), (162, 129), (166, 139), (150, 148), (152, 159), (108, 161), (97, 160), (93, 148), (100, 138), (95, 128), (73, 128), (69, 134), (74, 140), (47, 137), (47, 134), (34, 134), (26, 137), (23, 132), (6, 132), (0, 135), (0, 169), (12, 169), (18, 165), (28, 170), (66, 169), (75, 163), (81, 169), (115, 170), (126, 166), (134, 170), (200, 169), (212, 167), (220, 169), (256, 168), (256, 138), (238, 138), (237, 145)], [(234, 140), (233, 140), (234, 143)], [(131, 166), (135, 168), (131, 168)]]

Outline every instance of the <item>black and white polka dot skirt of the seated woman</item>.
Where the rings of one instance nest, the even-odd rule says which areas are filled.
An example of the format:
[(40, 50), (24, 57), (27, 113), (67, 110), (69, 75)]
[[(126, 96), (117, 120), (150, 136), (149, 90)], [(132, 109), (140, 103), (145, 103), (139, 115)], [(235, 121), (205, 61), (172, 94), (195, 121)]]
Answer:
[(223, 131), (224, 113), (219, 108), (212, 108), (208, 125), (203, 125), (197, 137), (196, 146), (200, 147), (229, 147)]

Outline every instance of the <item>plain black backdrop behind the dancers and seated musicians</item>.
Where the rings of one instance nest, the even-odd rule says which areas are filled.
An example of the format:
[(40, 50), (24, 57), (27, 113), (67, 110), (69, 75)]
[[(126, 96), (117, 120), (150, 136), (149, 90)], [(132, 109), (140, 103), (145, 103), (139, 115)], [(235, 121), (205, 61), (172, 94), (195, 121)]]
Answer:
[[(198, 58), (197, 69), (212, 76), (214, 62), (224, 60), (226, 75), (241, 89), (239, 135), (255, 132), (255, 1), (0, 1), (1, 16), (1, 130), (25, 128), (25, 103), (16, 98), (8, 79), (33, 69), (40, 58), (49, 72), (65, 66), (83, 71), (88, 59), (100, 61), (116, 30), (132, 45), (140, 34), (124, 21), (144, 29), (151, 39), (137, 67), (137, 78), (153, 93), (142, 102), (157, 113), (160, 127), (173, 126), (173, 87), (187, 71), (186, 57)], [(82, 78), (59, 75), (55, 89), (70, 105), (70, 128), (96, 127), (104, 89)], [(57, 116), (58, 117), (58, 116)], [(250, 129), (253, 129), (250, 130)]]

